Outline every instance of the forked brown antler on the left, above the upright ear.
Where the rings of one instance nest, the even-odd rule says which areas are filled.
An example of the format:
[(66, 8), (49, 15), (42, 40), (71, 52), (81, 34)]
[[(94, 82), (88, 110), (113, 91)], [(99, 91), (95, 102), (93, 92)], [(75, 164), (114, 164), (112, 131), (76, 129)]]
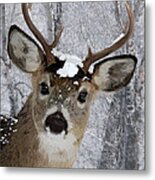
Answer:
[[(31, 5), (32, 6), (32, 5)], [(43, 35), (40, 33), (40, 31), (36, 28), (36, 26), (33, 24), (29, 13), (28, 13), (28, 9), (31, 8), (30, 4), (28, 3), (23, 3), (22, 4), (22, 12), (23, 12), (23, 16), (25, 19), (25, 22), (27, 24), (27, 26), (29, 27), (29, 29), (32, 31), (32, 33), (34, 34), (34, 36), (37, 38), (37, 40), (40, 42), (40, 44), (42, 45), (45, 53), (46, 53), (46, 57), (47, 57), (47, 61), (49, 63), (56, 63), (55, 62), (55, 58), (54, 55), (51, 53), (52, 49), (56, 47), (56, 45), (59, 42), (59, 39), (61, 37), (63, 28), (61, 28), (61, 30), (58, 32), (58, 34), (55, 36), (54, 41), (51, 44), (48, 44), (47, 41), (45, 40), (45, 38), (43, 37)]]

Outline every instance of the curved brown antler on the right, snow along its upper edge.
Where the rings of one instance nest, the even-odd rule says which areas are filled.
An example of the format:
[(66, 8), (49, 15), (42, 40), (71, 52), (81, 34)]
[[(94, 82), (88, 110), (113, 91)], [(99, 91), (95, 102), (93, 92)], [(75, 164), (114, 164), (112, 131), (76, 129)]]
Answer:
[(83, 70), (85, 73), (87, 73), (87, 71), (92, 63), (94, 63), (95, 61), (116, 51), (117, 49), (119, 49), (121, 46), (123, 46), (128, 41), (130, 35), (132, 34), (133, 28), (134, 28), (134, 17), (133, 17), (132, 11), (130, 9), (130, 6), (127, 2), (125, 3), (125, 6), (126, 6), (126, 10), (127, 10), (128, 17), (129, 17), (129, 25), (128, 25), (127, 32), (124, 34), (123, 37), (121, 37), (118, 41), (116, 41), (112, 46), (107, 47), (97, 53), (93, 54), (91, 48), (89, 47), (88, 55), (84, 61), (84, 66), (83, 66)]

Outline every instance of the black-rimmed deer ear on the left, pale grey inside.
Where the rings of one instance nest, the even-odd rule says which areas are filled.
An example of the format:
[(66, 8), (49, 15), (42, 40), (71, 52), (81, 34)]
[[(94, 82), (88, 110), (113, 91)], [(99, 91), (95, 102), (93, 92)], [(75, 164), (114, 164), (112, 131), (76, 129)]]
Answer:
[(9, 30), (8, 54), (17, 67), (29, 73), (38, 70), (44, 57), (37, 43), (16, 25)]

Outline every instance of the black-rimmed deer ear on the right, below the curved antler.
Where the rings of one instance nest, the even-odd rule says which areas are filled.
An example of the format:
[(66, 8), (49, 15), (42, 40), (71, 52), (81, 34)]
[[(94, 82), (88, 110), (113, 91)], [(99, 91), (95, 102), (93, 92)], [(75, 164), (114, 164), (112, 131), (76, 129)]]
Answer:
[(95, 65), (92, 81), (103, 91), (115, 91), (130, 82), (136, 63), (131, 55), (105, 59)]

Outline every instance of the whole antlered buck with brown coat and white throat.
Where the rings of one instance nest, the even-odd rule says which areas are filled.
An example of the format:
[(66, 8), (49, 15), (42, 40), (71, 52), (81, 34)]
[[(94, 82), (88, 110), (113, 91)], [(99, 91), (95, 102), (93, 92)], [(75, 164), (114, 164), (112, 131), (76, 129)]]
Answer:
[(77, 74), (61, 77), (57, 71), (65, 62), (54, 55), (53, 49), (63, 28), (48, 43), (30, 17), (30, 4), (21, 4), (24, 20), (36, 40), (14, 24), (9, 29), (7, 50), (14, 65), (31, 74), (33, 89), (18, 114), (17, 132), (1, 148), (1, 166), (73, 167), (92, 102), (102, 91), (114, 92), (129, 84), (136, 68), (133, 55), (106, 57), (120, 49), (133, 32), (134, 16), (127, 2), (125, 7), (129, 22), (123, 36), (95, 53), (89, 47)]

